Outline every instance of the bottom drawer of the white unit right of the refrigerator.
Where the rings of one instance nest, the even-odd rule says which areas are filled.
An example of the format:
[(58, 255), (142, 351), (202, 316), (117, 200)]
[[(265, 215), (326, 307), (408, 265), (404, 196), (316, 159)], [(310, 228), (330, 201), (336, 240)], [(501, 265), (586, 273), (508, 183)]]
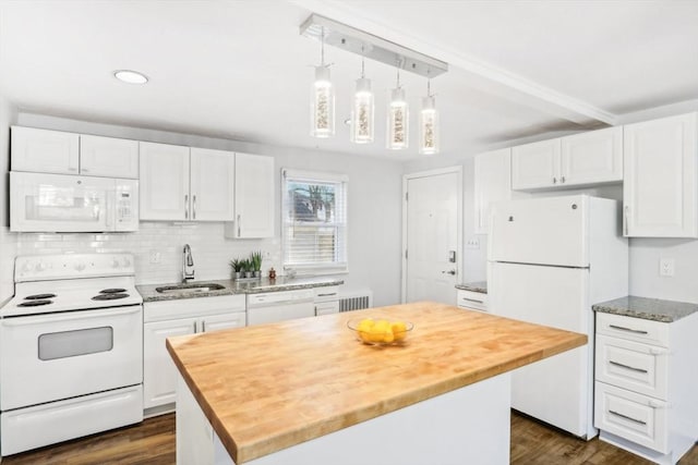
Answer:
[(669, 452), (667, 404), (597, 381), (594, 426), (661, 453)]

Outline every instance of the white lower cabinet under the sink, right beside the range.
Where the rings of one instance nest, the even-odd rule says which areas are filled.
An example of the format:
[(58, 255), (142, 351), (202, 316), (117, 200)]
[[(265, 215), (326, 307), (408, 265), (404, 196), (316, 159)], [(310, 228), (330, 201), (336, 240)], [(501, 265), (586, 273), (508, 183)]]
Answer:
[(143, 407), (146, 415), (171, 412), (177, 368), (167, 338), (244, 327), (244, 295), (146, 302), (143, 307)]

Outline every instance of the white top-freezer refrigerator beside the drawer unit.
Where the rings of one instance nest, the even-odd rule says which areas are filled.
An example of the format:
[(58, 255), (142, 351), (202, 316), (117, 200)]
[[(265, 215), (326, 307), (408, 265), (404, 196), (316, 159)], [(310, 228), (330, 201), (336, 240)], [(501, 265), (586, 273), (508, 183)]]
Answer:
[(496, 204), (488, 296), (495, 315), (587, 334), (587, 345), (519, 368), (512, 407), (591, 439), (591, 305), (627, 295), (628, 246), (615, 200), (573, 195)]

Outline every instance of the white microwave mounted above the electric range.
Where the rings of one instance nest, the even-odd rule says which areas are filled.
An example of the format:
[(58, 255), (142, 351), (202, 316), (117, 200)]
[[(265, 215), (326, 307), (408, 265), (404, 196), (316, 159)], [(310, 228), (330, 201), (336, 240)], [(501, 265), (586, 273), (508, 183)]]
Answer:
[(10, 231), (139, 230), (139, 182), (10, 172)]

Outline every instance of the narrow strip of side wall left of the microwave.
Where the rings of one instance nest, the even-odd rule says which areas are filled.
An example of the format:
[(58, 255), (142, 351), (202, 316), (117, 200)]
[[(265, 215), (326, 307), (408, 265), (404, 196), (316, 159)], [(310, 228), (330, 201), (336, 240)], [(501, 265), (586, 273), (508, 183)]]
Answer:
[(14, 257), (16, 236), (9, 229), (9, 175), (10, 125), (14, 123), (16, 111), (0, 88), (0, 306), (14, 294)]

